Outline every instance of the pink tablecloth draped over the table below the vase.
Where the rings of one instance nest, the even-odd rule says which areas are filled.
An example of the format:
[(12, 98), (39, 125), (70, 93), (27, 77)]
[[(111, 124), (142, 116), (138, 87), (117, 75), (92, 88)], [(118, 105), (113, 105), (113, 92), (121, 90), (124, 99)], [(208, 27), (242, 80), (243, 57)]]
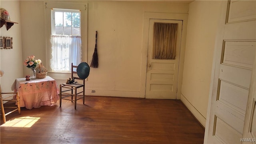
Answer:
[(25, 78), (16, 78), (12, 90), (19, 92), (20, 107), (27, 109), (52, 106), (59, 100), (57, 83), (50, 76), (29, 81)]

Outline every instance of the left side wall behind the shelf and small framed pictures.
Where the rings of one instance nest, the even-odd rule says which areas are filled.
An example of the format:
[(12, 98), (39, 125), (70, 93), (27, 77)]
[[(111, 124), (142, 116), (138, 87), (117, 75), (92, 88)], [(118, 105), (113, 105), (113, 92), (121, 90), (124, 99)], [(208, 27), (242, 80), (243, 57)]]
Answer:
[(20, 1), (0, 1), (1, 8), (6, 9), (10, 14), (10, 20), (18, 22), (9, 30), (4, 25), (0, 29), (0, 35), (12, 37), (12, 49), (0, 50), (0, 70), (4, 71), (4, 76), (0, 79), (3, 92), (11, 92), (12, 83), (16, 78), (24, 77), (23, 59), (22, 59), (22, 41), (21, 41), (21, 22), (20, 22)]

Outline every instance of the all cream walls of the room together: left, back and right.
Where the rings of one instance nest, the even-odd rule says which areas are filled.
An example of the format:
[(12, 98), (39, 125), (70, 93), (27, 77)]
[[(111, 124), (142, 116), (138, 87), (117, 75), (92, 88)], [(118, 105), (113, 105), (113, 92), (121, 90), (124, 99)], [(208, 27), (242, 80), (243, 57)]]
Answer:
[[(102, 96), (139, 96), (144, 12), (188, 13), (189, 8), (181, 99), (205, 126), (220, 2), (83, 2), (88, 2), (88, 60), (84, 61), (92, 59), (95, 30), (99, 56), (99, 68), (91, 68), (86, 94)], [(0, 29), (1, 36), (13, 37), (13, 49), (0, 50), (0, 69), (5, 72), (0, 83), (3, 90), (10, 90), (15, 78), (28, 74), (22, 65), (27, 56), (46, 61), (44, 1), (1, 0), (0, 4), (19, 23), (8, 31), (5, 26)]]

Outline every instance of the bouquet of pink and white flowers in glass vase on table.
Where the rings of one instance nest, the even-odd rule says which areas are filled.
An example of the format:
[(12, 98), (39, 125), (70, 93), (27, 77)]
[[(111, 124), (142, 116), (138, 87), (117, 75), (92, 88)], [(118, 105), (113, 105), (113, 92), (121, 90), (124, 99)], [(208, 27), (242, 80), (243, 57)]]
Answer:
[(36, 66), (41, 63), (41, 60), (35, 60), (35, 56), (28, 56), (26, 60), (23, 62), (23, 64), (27, 68), (31, 68), (30, 71), (30, 80), (35, 80), (36, 79)]

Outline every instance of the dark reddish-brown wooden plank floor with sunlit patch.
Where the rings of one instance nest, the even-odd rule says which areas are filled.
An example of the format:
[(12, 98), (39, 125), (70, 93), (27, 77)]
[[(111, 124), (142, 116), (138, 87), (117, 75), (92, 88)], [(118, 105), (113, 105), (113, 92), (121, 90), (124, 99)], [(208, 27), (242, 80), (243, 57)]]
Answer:
[[(59, 101), (58, 101), (59, 102)], [(1, 144), (203, 144), (204, 128), (180, 100), (86, 96), (1, 116)]]

